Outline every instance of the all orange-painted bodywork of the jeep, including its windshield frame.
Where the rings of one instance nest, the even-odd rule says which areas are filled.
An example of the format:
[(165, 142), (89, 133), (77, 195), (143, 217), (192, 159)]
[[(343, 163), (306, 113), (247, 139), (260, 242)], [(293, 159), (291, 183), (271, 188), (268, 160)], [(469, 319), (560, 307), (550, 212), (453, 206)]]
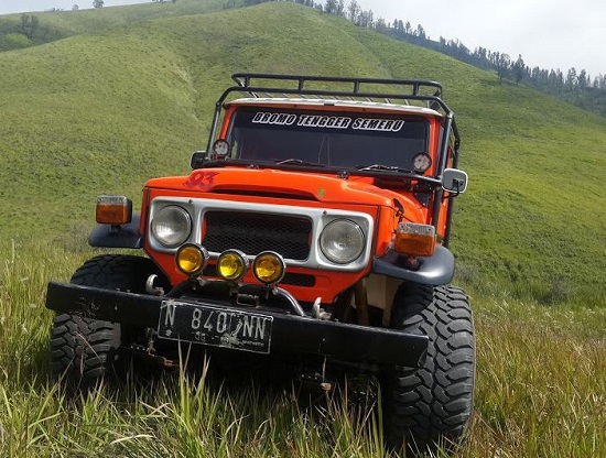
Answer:
[[(278, 108), (293, 110), (314, 110), (324, 112), (358, 112), (394, 116), (413, 115), (423, 117), (430, 123), (430, 138), (428, 153), (432, 159), (426, 176), (435, 175), (439, 170), (437, 152), (441, 141), (441, 128), (443, 118), (431, 110), (429, 111), (402, 111), (401, 107), (393, 106), (347, 106), (338, 107), (331, 103), (315, 103), (313, 108), (307, 101), (278, 101), (271, 100), (241, 100), (227, 103), (224, 108), (223, 122), (218, 138), (226, 139), (234, 116), (238, 108), (253, 105), (258, 108)], [(380, 157), (377, 159), (380, 162)], [(193, 199), (220, 199), (234, 203), (303, 206), (318, 209), (336, 209), (369, 215), (375, 223), (374, 240), (370, 261), (366, 266), (356, 272), (343, 272), (338, 270), (310, 269), (290, 265), (286, 272), (313, 275), (314, 287), (288, 286), (299, 301), (313, 302), (322, 297), (324, 303), (333, 302), (335, 297), (351, 287), (360, 279), (369, 274), (374, 257), (382, 257), (393, 246), (396, 228), (401, 221), (432, 225), (434, 208), (434, 194), (423, 190), (423, 187), (415, 187), (418, 183), (412, 181), (404, 185), (397, 175), (390, 177), (366, 177), (349, 176), (337, 177), (334, 172), (317, 171), (284, 171), (273, 168), (253, 168), (241, 166), (209, 167), (194, 170), (188, 176), (174, 176), (154, 178), (148, 182), (144, 189), (142, 206), (142, 218), (140, 230), (145, 233), (148, 228), (148, 208), (155, 197), (190, 197)], [(411, 189), (414, 189), (412, 192)], [(423, 194), (424, 193), (424, 194)], [(447, 216), (447, 201), (440, 206), (440, 225), (436, 233), (441, 239), (445, 233)], [(144, 249), (169, 276), (173, 285), (183, 282), (185, 275), (181, 273), (175, 264), (173, 254), (154, 252), (145, 237)], [(238, 247), (234, 247), (237, 249)], [(212, 260), (210, 263), (214, 263)], [(256, 280), (250, 273), (244, 279), (245, 283), (255, 283)]]

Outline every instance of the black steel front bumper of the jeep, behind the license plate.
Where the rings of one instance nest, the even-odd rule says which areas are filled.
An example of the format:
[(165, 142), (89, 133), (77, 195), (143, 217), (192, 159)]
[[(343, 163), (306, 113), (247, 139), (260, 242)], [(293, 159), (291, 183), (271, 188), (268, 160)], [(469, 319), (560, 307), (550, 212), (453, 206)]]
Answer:
[[(52, 282), (48, 284), (46, 307), (87, 318), (134, 325), (140, 328), (158, 328), (163, 301), (166, 301), (166, 297)], [(192, 301), (184, 302), (196, 304)], [(225, 308), (237, 310), (234, 307)], [(418, 367), (428, 348), (425, 336), (285, 315), (267, 309), (263, 309), (263, 314), (273, 317), (272, 352), (317, 355), (351, 363)]]

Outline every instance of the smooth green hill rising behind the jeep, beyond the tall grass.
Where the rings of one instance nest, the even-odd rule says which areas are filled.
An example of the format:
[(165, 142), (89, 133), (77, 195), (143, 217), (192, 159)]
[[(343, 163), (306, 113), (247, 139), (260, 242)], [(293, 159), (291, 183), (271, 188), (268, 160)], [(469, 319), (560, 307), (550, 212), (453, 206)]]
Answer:
[(187, 173), (234, 72), (426, 78), (457, 113), (470, 176), (454, 220), (459, 280), (605, 303), (605, 119), (310, 8), (221, 8), (40, 13), (68, 37), (0, 53), (0, 237), (84, 238), (95, 196), (137, 203), (148, 178)]

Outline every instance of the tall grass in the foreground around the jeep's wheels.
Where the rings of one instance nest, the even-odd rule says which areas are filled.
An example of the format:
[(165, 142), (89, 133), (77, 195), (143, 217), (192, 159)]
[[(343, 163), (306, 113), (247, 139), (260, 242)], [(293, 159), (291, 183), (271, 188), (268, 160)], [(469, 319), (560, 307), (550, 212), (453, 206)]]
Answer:
[[(310, 403), (289, 384), (224, 384), (196, 361), (68, 395), (48, 374), (44, 290), (90, 254), (0, 244), (0, 456), (385, 456), (372, 385), (362, 402), (345, 389)], [(472, 304), (475, 416), (456, 456), (606, 456), (606, 310), (475, 293)]]

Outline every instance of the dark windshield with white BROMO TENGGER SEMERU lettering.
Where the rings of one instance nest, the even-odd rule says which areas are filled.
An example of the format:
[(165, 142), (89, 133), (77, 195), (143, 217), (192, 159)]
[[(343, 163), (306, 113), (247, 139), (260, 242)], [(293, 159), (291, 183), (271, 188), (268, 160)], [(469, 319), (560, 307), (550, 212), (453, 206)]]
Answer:
[(429, 122), (422, 117), (246, 107), (236, 111), (227, 141), (232, 159), (412, 170), (413, 156), (428, 152)]

